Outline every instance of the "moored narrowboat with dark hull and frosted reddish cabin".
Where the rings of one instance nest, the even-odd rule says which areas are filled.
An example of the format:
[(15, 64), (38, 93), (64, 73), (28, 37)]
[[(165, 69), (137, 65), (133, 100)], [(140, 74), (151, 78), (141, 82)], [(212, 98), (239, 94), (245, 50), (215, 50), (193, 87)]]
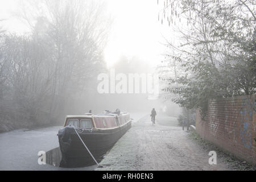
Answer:
[(80, 138), (99, 161), (130, 127), (129, 113), (67, 116), (64, 128), (57, 134), (62, 154), (60, 167), (84, 167), (94, 163)]

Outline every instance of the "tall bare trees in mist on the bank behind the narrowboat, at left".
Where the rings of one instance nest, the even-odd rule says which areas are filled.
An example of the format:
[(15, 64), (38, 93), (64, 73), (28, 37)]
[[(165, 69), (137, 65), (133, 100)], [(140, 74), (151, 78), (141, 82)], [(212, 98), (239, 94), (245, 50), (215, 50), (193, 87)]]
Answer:
[(83, 110), (105, 69), (109, 22), (102, 8), (93, 1), (26, 1), (21, 16), (31, 32), (0, 30), (0, 131), (56, 123), (67, 110)]

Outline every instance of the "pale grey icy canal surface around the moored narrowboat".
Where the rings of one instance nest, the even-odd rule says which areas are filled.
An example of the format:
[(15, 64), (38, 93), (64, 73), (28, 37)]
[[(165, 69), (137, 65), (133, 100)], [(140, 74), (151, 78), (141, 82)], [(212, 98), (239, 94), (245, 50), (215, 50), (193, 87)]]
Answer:
[[(145, 113), (133, 113), (136, 122)], [(0, 134), (0, 170), (67, 170), (49, 164), (38, 164), (38, 152), (59, 147), (57, 132), (62, 126), (35, 130), (14, 130)], [(97, 166), (68, 170), (93, 170)]]

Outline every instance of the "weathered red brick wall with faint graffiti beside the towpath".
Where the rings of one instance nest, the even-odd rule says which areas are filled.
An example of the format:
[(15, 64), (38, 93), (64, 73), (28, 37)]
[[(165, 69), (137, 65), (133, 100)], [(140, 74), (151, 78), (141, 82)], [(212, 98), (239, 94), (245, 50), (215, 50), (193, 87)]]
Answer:
[(205, 121), (196, 113), (201, 138), (249, 163), (256, 164), (255, 95), (210, 100)]

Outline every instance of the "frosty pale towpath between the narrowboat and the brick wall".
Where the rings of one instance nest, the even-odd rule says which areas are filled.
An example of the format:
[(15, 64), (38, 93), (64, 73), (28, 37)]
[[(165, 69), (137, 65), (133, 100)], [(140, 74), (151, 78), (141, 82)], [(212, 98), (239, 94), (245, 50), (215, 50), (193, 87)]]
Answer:
[(133, 126), (101, 161), (96, 170), (230, 170), (217, 159), (209, 165), (208, 152), (187, 137), (174, 117), (146, 115)]

